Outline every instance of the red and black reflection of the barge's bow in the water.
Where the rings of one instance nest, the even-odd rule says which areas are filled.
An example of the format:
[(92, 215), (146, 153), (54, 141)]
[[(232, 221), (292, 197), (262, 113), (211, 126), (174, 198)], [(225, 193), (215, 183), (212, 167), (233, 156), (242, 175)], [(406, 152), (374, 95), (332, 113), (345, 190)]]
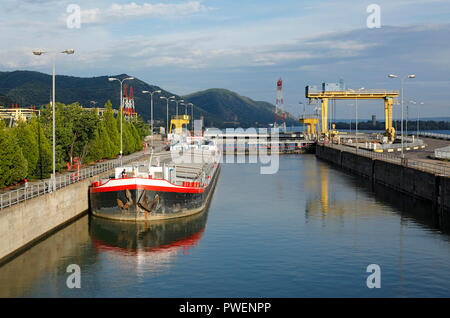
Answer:
[(180, 251), (186, 254), (198, 245), (207, 217), (208, 209), (189, 217), (138, 223), (92, 216), (89, 234), (97, 253), (141, 276), (168, 269)]

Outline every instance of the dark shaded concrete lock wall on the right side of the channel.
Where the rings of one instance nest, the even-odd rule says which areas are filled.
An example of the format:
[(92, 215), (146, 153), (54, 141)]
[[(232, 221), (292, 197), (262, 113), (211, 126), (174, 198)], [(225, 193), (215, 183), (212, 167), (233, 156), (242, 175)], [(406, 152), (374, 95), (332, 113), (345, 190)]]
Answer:
[(430, 201), (441, 211), (450, 211), (449, 177), (319, 145), (316, 156), (373, 182)]

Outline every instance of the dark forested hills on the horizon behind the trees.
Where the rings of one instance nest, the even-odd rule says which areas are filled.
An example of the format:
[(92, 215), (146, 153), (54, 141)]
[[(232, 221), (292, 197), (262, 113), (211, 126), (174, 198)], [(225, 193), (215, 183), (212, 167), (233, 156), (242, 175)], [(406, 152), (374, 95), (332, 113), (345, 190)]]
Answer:
[[(125, 78), (127, 74), (113, 75), (113, 77)], [(56, 75), (56, 101), (64, 104), (79, 102), (84, 107), (103, 107), (108, 99), (113, 108), (119, 108), (119, 83), (109, 82), (109, 76), (80, 78), (74, 76)], [(11, 102), (17, 102), (19, 106), (48, 104), (51, 99), (51, 75), (34, 71), (0, 72), (0, 94), (5, 95), (5, 106)], [(168, 92), (155, 85), (150, 85), (135, 78), (126, 82), (133, 86), (136, 111), (145, 119), (150, 119), (150, 96), (142, 94), (143, 90), (162, 90), (161, 94), (153, 96), (153, 114), (155, 121), (165, 121), (166, 101), (160, 96), (183, 97)], [(1, 95), (0, 95), (1, 98)], [(184, 96), (186, 103), (192, 102), (194, 116), (204, 116), (205, 124), (215, 127), (234, 126), (267, 126), (274, 119), (274, 105), (267, 102), (253, 101), (248, 97), (225, 89), (209, 89)], [(9, 104), (8, 104), (9, 103)], [(0, 99), (0, 104), (1, 99)], [(190, 108), (188, 109), (191, 111)], [(179, 105), (179, 113), (182, 114), (185, 107)], [(169, 114), (175, 114), (175, 103), (169, 103)], [(235, 124), (235, 122), (238, 124)], [(294, 122), (288, 119), (288, 124)], [(257, 123), (257, 124), (256, 124)], [(161, 124), (163, 124), (161, 122)]]

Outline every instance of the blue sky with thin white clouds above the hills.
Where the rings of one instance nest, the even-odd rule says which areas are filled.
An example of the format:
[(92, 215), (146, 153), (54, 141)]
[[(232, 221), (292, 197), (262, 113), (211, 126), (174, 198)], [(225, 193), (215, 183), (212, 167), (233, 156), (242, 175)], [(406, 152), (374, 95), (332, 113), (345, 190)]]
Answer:
[[(449, 0), (2, 0), (0, 30), (0, 71), (51, 73), (32, 51), (73, 48), (57, 74), (127, 73), (179, 95), (226, 88), (271, 103), (281, 77), (294, 115), (313, 112), (306, 85), (400, 89), (387, 75), (415, 74), (409, 118), (450, 117)], [(353, 101), (336, 104), (337, 118), (355, 117)], [(383, 118), (383, 102), (358, 101), (358, 118), (371, 115)]]

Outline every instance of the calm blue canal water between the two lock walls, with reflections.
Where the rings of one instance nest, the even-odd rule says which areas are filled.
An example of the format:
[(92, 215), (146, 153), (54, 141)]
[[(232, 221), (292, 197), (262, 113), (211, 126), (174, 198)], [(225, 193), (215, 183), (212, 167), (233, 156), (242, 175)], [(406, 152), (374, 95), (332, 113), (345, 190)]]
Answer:
[[(223, 164), (208, 210), (176, 222), (84, 216), (0, 267), (2, 297), (448, 297), (431, 206), (313, 155), (274, 175)], [(81, 267), (81, 289), (66, 268)], [(369, 289), (369, 264), (381, 288)]]

